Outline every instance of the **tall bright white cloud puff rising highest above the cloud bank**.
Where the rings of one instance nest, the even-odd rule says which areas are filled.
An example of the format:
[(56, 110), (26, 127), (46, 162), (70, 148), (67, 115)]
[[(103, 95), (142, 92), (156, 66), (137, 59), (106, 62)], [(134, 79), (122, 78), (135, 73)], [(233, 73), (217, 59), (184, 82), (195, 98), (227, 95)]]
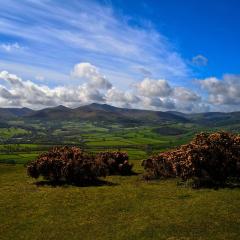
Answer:
[(71, 76), (87, 79), (94, 88), (110, 89), (112, 87), (112, 84), (99, 72), (99, 69), (90, 63), (76, 64), (71, 72)]

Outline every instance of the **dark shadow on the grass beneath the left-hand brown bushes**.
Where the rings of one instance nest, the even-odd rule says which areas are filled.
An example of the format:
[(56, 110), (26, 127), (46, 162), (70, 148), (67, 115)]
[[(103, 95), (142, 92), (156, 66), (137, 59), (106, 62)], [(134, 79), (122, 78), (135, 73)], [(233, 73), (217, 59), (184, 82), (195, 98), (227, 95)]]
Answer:
[(51, 186), (51, 187), (68, 187), (68, 186), (75, 186), (75, 187), (101, 187), (101, 186), (118, 186), (118, 183), (113, 183), (105, 180), (94, 180), (94, 181), (81, 181), (78, 183), (71, 183), (67, 181), (48, 181), (42, 180), (34, 183), (37, 187), (42, 186)]

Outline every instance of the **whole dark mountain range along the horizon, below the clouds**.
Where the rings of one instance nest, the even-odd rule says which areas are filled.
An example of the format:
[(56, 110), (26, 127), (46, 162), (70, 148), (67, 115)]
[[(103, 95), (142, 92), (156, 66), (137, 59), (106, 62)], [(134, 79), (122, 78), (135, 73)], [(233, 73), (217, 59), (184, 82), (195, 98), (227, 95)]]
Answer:
[(107, 104), (92, 103), (75, 109), (65, 106), (31, 110), (29, 108), (0, 108), (0, 120), (21, 118), (25, 120), (87, 120), (120, 124), (157, 124), (157, 123), (197, 123), (221, 126), (240, 123), (240, 112), (207, 112), (185, 114), (181, 112), (162, 112), (118, 108)]

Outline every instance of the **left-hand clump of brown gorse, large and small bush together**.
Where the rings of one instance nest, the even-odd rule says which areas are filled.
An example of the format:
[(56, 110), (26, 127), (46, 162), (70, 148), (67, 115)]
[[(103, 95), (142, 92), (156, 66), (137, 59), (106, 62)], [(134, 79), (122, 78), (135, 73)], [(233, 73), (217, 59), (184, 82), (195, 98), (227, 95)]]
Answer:
[(33, 178), (43, 176), (71, 183), (94, 181), (108, 174), (127, 175), (131, 169), (126, 153), (102, 152), (93, 156), (77, 147), (53, 148), (27, 165), (27, 173)]

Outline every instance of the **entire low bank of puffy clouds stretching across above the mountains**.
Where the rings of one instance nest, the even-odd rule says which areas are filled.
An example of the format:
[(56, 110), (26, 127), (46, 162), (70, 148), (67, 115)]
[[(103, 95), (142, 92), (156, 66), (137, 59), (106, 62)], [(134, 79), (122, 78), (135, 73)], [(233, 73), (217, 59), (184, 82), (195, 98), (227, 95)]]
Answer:
[(144, 78), (123, 91), (113, 86), (107, 76), (91, 63), (74, 65), (70, 77), (81, 78), (84, 82), (77, 86), (59, 85), (50, 88), (2, 71), (0, 79), (4, 81), (0, 85), (0, 105), (77, 107), (98, 102), (129, 108), (203, 112), (218, 110), (219, 106), (234, 109), (240, 104), (240, 78), (235, 75), (225, 75), (222, 80), (196, 80), (196, 84), (207, 94), (206, 98), (189, 88), (173, 86), (165, 79)]

